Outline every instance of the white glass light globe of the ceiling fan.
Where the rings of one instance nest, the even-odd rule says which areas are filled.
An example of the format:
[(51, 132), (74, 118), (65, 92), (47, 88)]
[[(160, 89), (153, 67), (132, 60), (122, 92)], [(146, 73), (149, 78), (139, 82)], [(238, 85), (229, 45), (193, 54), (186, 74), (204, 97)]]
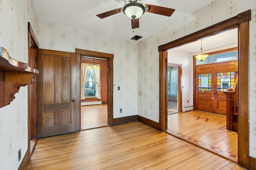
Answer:
[(137, 19), (144, 14), (145, 7), (137, 2), (130, 2), (124, 6), (123, 12), (129, 18)]

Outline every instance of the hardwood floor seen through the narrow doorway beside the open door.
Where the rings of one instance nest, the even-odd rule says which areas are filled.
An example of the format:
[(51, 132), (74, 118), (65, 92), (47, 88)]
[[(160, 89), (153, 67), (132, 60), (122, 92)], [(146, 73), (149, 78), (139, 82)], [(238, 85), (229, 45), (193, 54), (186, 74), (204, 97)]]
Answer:
[(81, 130), (108, 126), (108, 104), (81, 106)]

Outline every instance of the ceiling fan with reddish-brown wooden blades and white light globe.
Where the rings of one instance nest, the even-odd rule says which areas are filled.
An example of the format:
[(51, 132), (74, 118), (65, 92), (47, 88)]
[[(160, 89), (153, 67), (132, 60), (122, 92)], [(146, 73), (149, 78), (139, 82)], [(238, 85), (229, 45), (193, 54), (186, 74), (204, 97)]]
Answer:
[(144, 12), (151, 12), (154, 14), (159, 14), (163, 16), (170, 17), (173, 12), (175, 11), (172, 8), (166, 8), (162, 6), (155, 6), (150, 4), (143, 5), (144, 0), (123, 0), (124, 1), (124, 7), (123, 8), (117, 8), (115, 10), (111, 10), (108, 12), (104, 12), (102, 14), (98, 14), (99, 18), (106, 18), (108, 16), (112, 16), (114, 14), (118, 14), (120, 12), (124, 12), (126, 16), (131, 18), (132, 21), (132, 29), (138, 28), (139, 25), (139, 18), (144, 14)]

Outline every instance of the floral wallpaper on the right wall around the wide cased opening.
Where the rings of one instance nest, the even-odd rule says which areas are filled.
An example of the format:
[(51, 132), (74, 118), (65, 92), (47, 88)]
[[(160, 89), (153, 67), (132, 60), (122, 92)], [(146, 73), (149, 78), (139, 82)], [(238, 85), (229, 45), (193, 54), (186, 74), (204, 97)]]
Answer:
[[(256, 157), (256, 1), (214, 0), (204, 8), (170, 23), (138, 43), (138, 115), (159, 122), (158, 46), (251, 10), (250, 21), (250, 156)], [(153, 70), (153, 71), (152, 71)], [(148, 74), (150, 72), (150, 74)]]

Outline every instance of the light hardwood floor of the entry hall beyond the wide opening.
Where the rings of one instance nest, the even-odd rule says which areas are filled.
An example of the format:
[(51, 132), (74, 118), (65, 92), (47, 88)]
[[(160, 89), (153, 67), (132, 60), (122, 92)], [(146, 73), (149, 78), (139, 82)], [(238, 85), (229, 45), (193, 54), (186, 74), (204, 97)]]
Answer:
[(204, 111), (168, 115), (168, 133), (237, 162), (238, 133), (226, 130), (226, 116)]

